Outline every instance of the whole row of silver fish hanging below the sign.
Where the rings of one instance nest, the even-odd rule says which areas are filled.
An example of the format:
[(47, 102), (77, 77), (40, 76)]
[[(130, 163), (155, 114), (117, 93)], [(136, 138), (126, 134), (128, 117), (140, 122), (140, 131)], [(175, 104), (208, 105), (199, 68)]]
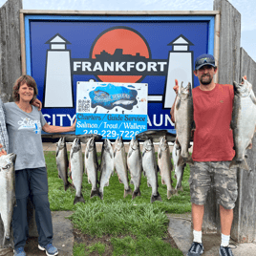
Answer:
[[(87, 141), (85, 154), (84, 154), (84, 164), (80, 139), (75, 138), (72, 144), (70, 152), (70, 176), (75, 187), (75, 203), (82, 202), (84, 199), (81, 193), (83, 173), (88, 177), (88, 182), (92, 184), (92, 190), (90, 198), (98, 196), (101, 200), (103, 199), (104, 187), (109, 185), (109, 180), (114, 174), (114, 170), (117, 172), (119, 182), (124, 185), (124, 198), (131, 194), (132, 198), (135, 199), (140, 196), (139, 185), (141, 181), (141, 174), (147, 178), (148, 186), (152, 187), (152, 195), (150, 202), (161, 201), (160, 194), (158, 192), (158, 171), (160, 171), (161, 182), (167, 186), (167, 198), (170, 199), (171, 196), (177, 193), (177, 189), (181, 189), (181, 179), (183, 173), (183, 166), (177, 167), (176, 177), (178, 179), (177, 186), (174, 188), (172, 186), (171, 172), (173, 170), (173, 165), (171, 162), (171, 155), (169, 151), (169, 146), (165, 136), (160, 138), (159, 154), (157, 164), (153, 139), (146, 139), (143, 142), (142, 154), (140, 153), (139, 140), (131, 139), (129, 143), (129, 150), (126, 156), (124, 144), (121, 138), (117, 138), (114, 146), (109, 139), (104, 139), (102, 150), (101, 150), (101, 162), (98, 166), (97, 156), (96, 156), (96, 139), (90, 138)], [(180, 155), (180, 151), (174, 147), (173, 154), (177, 156)], [(177, 166), (177, 161), (179, 156), (174, 159), (175, 166)], [(68, 181), (68, 154), (65, 143), (65, 138), (59, 139), (56, 147), (56, 163), (58, 169), (59, 178), (64, 182), (65, 190), (71, 186)], [(179, 169), (180, 168), (180, 169)], [(97, 179), (97, 172), (99, 171), (99, 179)], [(134, 184), (134, 191), (132, 191), (128, 172), (131, 175), (130, 183)], [(179, 185), (178, 185), (179, 184)]]

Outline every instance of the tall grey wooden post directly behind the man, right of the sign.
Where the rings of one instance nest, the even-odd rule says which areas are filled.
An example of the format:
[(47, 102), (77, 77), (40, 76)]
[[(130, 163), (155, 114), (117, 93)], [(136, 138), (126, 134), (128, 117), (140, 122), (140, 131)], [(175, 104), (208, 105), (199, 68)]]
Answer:
[[(216, 56), (219, 60), (218, 81), (233, 84), (240, 76), (241, 14), (227, 0), (214, 0), (213, 10), (221, 11), (219, 56)], [(204, 206), (203, 233), (220, 233), (219, 205), (213, 188)]]

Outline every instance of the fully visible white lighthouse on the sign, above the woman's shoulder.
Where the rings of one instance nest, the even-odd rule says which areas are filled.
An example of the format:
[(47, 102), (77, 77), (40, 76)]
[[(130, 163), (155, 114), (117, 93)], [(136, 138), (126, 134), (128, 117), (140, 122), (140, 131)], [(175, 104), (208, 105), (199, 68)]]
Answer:
[(71, 51), (68, 40), (56, 33), (46, 44), (47, 51), (44, 108), (74, 108)]

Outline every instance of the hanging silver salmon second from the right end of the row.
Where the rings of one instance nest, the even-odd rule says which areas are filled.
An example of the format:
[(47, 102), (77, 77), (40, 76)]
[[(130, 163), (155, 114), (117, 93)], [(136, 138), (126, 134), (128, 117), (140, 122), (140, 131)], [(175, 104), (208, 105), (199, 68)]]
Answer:
[(173, 164), (169, 145), (165, 139), (165, 136), (161, 137), (160, 139), (158, 162), (160, 167), (161, 183), (167, 186), (167, 199), (170, 199), (176, 191), (172, 186)]

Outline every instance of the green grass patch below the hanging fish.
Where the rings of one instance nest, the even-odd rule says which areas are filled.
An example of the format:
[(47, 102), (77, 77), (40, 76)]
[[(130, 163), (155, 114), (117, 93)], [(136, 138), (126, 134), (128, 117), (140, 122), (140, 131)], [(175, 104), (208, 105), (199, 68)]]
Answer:
[[(124, 187), (119, 183), (115, 173), (104, 187), (104, 199), (90, 199), (92, 185), (84, 175), (82, 194), (86, 203), (73, 204), (75, 189), (64, 191), (63, 181), (58, 178), (55, 153), (45, 152), (48, 169), (49, 201), (51, 210), (73, 210), (70, 217), (75, 228), (92, 237), (110, 235), (113, 255), (182, 255), (181, 251), (163, 242), (167, 235), (168, 218), (165, 213), (185, 213), (191, 211), (189, 195), (189, 166), (184, 170), (182, 187), (179, 195), (167, 199), (166, 185), (159, 179), (159, 193), (162, 202), (150, 203), (152, 188), (142, 175), (140, 183), (141, 196), (132, 200), (128, 195), (123, 198)], [(98, 158), (99, 160), (99, 158)], [(174, 172), (172, 174), (174, 176)], [(130, 179), (130, 176), (129, 176)], [(71, 180), (70, 180), (71, 181)], [(173, 186), (176, 180), (173, 178)], [(134, 189), (134, 185), (131, 185)], [(120, 238), (121, 237), (121, 238)], [(105, 245), (96, 243), (90, 246), (75, 244), (74, 255), (102, 255)]]

